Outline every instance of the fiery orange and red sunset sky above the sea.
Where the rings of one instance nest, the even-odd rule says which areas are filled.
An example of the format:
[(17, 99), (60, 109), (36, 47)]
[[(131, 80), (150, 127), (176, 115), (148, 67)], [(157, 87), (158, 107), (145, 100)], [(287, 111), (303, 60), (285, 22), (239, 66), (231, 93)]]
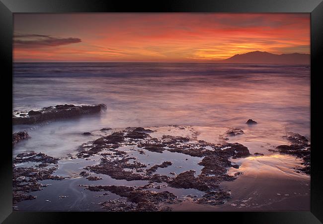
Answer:
[(310, 13), (14, 13), (15, 62), (208, 62), (310, 54)]

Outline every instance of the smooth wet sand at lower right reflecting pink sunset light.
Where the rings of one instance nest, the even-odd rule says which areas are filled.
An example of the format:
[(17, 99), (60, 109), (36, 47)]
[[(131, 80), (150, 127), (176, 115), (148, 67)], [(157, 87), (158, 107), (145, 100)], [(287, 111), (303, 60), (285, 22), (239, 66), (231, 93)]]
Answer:
[(205, 206), (187, 200), (172, 205), (173, 211), (309, 211), (310, 176), (295, 172), (301, 160), (288, 155), (268, 155), (232, 160), (241, 165), (228, 173), (242, 172), (238, 179), (223, 182), (231, 191), (224, 205)]

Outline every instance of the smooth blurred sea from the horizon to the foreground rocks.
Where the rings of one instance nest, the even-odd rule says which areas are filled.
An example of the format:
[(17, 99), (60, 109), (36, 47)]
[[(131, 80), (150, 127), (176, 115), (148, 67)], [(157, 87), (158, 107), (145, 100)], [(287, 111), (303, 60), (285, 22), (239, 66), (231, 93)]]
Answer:
[[(271, 141), (279, 142), (285, 131), (310, 137), (310, 68), (217, 63), (14, 63), (13, 110), (102, 103), (107, 111), (101, 114), (50, 125), (15, 126), (13, 131), (26, 129), (32, 136), (15, 150), (66, 154), (97, 137), (82, 136), (84, 131), (169, 124), (199, 126), (201, 136), (206, 130), (204, 136), (213, 141), (221, 133), (212, 133), (210, 127), (247, 128), (249, 141), (271, 136)], [(252, 131), (244, 124), (249, 118), (258, 122)]]

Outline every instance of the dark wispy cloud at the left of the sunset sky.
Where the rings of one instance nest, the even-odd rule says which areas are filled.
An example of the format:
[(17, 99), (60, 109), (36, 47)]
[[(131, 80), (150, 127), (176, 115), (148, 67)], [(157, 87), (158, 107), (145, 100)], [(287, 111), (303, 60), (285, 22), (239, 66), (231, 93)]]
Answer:
[(61, 38), (39, 34), (18, 34), (13, 36), (16, 48), (44, 48), (80, 43), (80, 38)]

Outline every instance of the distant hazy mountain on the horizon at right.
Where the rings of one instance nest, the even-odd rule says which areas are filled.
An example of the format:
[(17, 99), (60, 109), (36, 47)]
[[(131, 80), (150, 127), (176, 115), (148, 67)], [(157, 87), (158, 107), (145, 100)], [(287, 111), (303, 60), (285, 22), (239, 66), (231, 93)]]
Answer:
[(219, 62), (223, 63), (261, 63), (261, 64), (310, 64), (309, 54), (282, 54), (275, 55), (268, 52), (249, 52), (235, 55)]

